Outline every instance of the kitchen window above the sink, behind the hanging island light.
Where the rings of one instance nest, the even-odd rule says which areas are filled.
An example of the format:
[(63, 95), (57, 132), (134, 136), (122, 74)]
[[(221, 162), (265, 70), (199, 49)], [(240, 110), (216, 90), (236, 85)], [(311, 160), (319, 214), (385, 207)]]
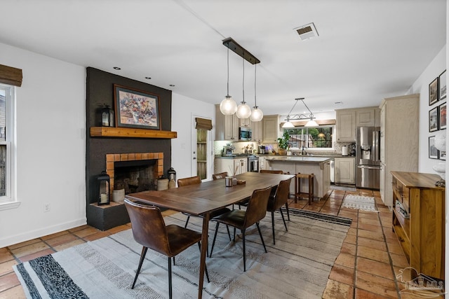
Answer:
[(333, 126), (295, 127), (285, 129), (290, 133), (290, 148), (333, 148)]

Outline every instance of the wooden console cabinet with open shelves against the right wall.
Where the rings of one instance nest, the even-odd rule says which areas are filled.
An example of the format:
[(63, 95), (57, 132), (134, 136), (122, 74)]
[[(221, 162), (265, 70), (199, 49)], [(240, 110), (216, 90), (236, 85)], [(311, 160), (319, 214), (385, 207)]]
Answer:
[(444, 279), (445, 188), (435, 186), (440, 176), (418, 172), (391, 172), (391, 176), (393, 230), (410, 267)]

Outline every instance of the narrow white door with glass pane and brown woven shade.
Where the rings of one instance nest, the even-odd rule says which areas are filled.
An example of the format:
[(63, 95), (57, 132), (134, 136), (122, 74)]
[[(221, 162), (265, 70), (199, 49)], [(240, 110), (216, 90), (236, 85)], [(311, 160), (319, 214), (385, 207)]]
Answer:
[[(201, 120), (204, 122), (202, 123)], [(212, 125), (210, 118), (192, 116), (192, 173), (201, 180), (211, 180), (213, 174)], [(206, 125), (203, 125), (206, 123)], [(208, 128), (210, 129), (208, 130)]]

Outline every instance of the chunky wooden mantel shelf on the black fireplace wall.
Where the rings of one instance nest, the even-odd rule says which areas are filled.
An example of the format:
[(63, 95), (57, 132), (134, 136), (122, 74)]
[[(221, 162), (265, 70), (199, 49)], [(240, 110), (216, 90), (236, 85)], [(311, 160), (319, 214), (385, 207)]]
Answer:
[(91, 127), (91, 137), (119, 137), (119, 138), (177, 138), (177, 132), (134, 129), (129, 127)]

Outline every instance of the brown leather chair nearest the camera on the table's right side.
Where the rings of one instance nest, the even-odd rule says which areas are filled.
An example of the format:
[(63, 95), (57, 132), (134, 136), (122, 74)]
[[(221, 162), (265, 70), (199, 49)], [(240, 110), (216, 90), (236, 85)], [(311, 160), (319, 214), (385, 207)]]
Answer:
[(262, 232), (260, 232), (259, 221), (261, 221), (267, 215), (267, 204), (269, 193), (271, 192), (271, 190), (272, 186), (264, 189), (254, 190), (253, 194), (250, 197), (246, 210), (234, 209), (212, 219), (212, 221), (217, 222), (217, 225), (215, 225), (215, 234), (213, 236), (212, 248), (210, 249), (209, 257), (212, 257), (213, 246), (215, 245), (215, 239), (217, 238), (217, 231), (220, 223), (230, 225), (234, 228), (234, 242), (236, 240), (236, 228), (241, 230), (243, 241), (243, 272), (246, 272), (245, 233), (246, 229), (251, 225), (255, 224), (257, 226), (260, 239), (262, 240), (262, 245), (264, 246), (265, 252), (267, 252), (267, 247), (265, 247)]

